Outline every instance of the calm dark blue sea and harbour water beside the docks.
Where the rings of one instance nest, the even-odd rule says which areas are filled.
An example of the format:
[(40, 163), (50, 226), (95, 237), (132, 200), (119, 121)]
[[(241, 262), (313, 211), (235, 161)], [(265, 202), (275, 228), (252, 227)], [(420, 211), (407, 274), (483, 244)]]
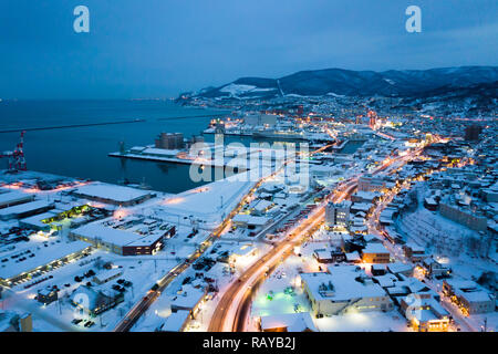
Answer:
[[(160, 132), (198, 135), (210, 117), (222, 112), (187, 108), (170, 101), (18, 101), (0, 102), (0, 131), (50, 127), (136, 118), (145, 122), (29, 131), (24, 136), (28, 169), (116, 184), (124, 178), (153, 189), (179, 192), (198, 184), (188, 178), (189, 166), (108, 157), (120, 149), (154, 144)], [(177, 118), (189, 116), (189, 118)], [(20, 133), (0, 133), (0, 152), (12, 150)], [(206, 136), (206, 140), (211, 137)], [(7, 160), (0, 159), (0, 169)]]

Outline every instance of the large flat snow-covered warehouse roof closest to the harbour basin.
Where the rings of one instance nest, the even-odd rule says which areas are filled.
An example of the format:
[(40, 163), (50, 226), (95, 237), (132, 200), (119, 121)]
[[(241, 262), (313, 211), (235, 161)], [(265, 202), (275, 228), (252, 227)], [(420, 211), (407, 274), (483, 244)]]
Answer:
[(102, 183), (94, 183), (83, 187), (79, 187), (73, 191), (73, 194), (82, 198), (90, 198), (107, 204), (122, 205), (139, 202), (152, 197), (152, 194), (147, 190)]

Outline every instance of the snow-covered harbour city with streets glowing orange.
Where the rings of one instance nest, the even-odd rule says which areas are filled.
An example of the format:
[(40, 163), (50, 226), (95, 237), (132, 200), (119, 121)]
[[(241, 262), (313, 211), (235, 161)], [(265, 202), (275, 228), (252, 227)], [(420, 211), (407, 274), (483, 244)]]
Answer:
[[(276, 101), (286, 113), (212, 119), (215, 143), (163, 134), (108, 157), (174, 156), (207, 180), (225, 168), (179, 194), (14, 160), (0, 176), (4, 326), (496, 331), (495, 121)], [(218, 144), (283, 127), (305, 143)]]

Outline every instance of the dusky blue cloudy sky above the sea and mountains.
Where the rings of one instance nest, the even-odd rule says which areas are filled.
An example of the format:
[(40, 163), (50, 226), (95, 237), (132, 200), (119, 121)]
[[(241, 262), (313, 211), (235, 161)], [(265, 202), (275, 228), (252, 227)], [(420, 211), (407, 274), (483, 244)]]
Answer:
[[(90, 9), (90, 33), (73, 9)], [(422, 33), (405, 9), (422, 8)], [(497, 65), (496, 0), (1, 0), (0, 97), (166, 97), (308, 69)]]

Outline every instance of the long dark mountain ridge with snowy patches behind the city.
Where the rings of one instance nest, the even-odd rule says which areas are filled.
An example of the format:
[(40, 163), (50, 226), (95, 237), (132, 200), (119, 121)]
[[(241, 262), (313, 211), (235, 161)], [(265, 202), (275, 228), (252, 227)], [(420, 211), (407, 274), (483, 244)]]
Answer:
[(295, 96), (419, 96), (498, 81), (497, 66), (459, 66), (384, 72), (325, 69), (301, 71), (280, 79), (241, 77), (219, 87), (207, 87), (199, 97)]

